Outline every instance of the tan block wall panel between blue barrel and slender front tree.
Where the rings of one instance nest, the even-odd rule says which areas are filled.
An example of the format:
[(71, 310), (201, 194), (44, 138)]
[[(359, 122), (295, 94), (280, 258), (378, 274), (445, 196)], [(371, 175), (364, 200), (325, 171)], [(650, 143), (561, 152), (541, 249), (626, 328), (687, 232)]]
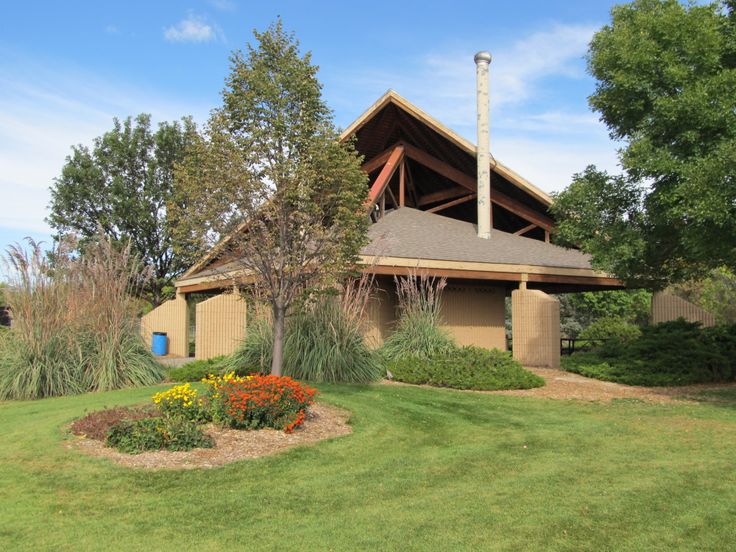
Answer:
[(245, 337), (247, 314), (247, 303), (237, 293), (223, 293), (197, 304), (195, 356), (207, 359), (233, 353)]

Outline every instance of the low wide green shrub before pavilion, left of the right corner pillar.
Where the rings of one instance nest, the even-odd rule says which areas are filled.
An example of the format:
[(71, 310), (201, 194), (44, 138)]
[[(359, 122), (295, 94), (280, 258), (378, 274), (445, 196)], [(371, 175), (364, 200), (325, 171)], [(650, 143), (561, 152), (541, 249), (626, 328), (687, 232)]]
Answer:
[(429, 359), (394, 359), (388, 363), (388, 370), (397, 381), (455, 389), (531, 389), (544, 385), (542, 378), (525, 370), (510, 353), (479, 347), (462, 347)]

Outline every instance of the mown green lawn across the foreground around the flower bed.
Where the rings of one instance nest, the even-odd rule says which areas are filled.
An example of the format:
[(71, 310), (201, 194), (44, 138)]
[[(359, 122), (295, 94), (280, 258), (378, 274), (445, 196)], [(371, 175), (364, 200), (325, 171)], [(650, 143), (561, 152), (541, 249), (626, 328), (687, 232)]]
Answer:
[(0, 404), (2, 550), (725, 550), (736, 395), (587, 404), (320, 386), (354, 434), (213, 470), (62, 446), (151, 389)]

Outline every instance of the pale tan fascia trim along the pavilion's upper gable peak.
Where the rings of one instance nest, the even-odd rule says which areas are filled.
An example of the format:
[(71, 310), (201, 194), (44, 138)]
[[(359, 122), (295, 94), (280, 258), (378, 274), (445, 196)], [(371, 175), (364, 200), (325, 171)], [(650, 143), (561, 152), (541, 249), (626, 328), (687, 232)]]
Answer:
[[(466, 140), (455, 131), (449, 129), (431, 115), (419, 109), (417, 106), (412, 104), (409, 100), (407, 100), (394, 90), (388, 90), (360, 117), (358, 117), (350, 126), (348, 126), (340, 135), (340, 140), (346, 140), (350, 136), (354, 135), (389, 104), (395, 105), (415, 119), (421, 121), (437, 134), (450, 141), (452, 144), (465, 151), (472, 157), (477, 157), (478, 149), (473, 143)], [(547, 207), (552, 205), (552, 198), (549, 196), (549, 194), (537, 188), (534, 184), (529, 182), (527, 179), (525, 179), (515, 171), (511, 170), (509, 167), (495, 159), (493, 156), (491, 156), (491, 169), (493, 170), (493, 172), (499, 174), (512, 184), (521, 188), (523, 191), (528, 193), (530, 196), (532, 196), (543, 205)]]

